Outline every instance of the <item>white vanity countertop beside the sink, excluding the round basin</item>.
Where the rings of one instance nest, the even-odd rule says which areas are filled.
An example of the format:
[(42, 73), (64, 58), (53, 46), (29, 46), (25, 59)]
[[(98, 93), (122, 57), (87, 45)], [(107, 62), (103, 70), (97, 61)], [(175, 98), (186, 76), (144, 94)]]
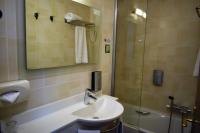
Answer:
[[(101, 97), (117, 100), (106, 95)], [(88, 106), (83, 98), (84, 94), (79, 94), (19, 114), (13, 118), (18, 123), (15, 130), (17, 133), (50, 133), (73, 123), (79, 118), (72, 113)]]

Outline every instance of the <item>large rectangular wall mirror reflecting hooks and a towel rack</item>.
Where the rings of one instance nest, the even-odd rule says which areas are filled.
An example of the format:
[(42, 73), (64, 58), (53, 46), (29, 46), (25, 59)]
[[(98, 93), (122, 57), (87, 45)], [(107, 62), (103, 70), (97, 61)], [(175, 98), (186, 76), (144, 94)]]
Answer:
[(73, 0), (25, 0), (27, 69), (97, 64), (101, 10)]

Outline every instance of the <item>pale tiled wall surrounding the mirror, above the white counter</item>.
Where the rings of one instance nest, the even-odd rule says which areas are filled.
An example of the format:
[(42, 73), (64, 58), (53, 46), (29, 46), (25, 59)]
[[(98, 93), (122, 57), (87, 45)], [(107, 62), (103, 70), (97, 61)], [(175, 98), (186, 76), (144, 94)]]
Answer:
[[(4, 9), (6, 7), (5, 9), (11, 12), (11, 20), (0, 20), (0, 26), (2, 26), (5, 31), (9, 29), (11, 33), (15, 33), (15, 36), (11, 37), (11, 39), (15, 39), (14, 43), (12, 43), (9, 42), (9, 36), (6, 35), (6, 32), (2, 31), (2, 28), (0, 28), (2, 36), (2, 39), (0, 40), (0, 46), (2, 47), (0, 49), (0, 54), (3, 53), (3, 55), (0, 56), (0, 82), (27, 79), (31, 84), (30, 98), (28, 102), (23, 105), (12, 107), (11, 109), (0, 108), (0, 118), (84, 92), (87, 87), (90, 87), (90, 74), (95, 70), (102, 71), (103, 93), (110, 94), (112, 54), (104, 53), (103, 40), (104, 38), (112, 39), (113, 0), (88, 1), (88, 4), (101, 9), (103, 15), (103, 21), (101, 22), (102, 43), (101, 49), (99, 49), (101, 52), (99, 65), (71, 66), (34, 71), (27, 71), (25, 66), (24, 12), (22, 10), (23, 0), (19, 0), (18, 3), (16, 3), (16, 0), (1, 0), (0, 2), (0, 6), (4, 5), (4, 3), (9, 3), (4, 5), (2, 8)], [(13, 7), (8, 7), (11, 5), (13, 5)], [(9, 14), (7, 14), (6, 17), (8, 15)], [(3, 26), (3, 24), (6, 25)]]

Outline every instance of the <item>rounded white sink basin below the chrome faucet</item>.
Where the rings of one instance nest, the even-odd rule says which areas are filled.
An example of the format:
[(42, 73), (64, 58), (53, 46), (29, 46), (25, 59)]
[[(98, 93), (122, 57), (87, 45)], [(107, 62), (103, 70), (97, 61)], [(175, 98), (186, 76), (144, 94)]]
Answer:
[(123, 106), (116, 100), (108, 97), (100, 97), (93, 104), (77, 110), (72, 114), (77, 116), (81, 121), (106, 122), (120, 117), (123, 111)]

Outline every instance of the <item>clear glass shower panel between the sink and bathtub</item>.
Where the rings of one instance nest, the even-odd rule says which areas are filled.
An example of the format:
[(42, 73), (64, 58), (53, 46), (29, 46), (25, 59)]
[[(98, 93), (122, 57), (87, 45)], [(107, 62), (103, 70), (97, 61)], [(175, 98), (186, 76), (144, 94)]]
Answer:
[(115, 96), (125, 107), (123, 121), (139, 127), (147, 0), (118, 0)]

